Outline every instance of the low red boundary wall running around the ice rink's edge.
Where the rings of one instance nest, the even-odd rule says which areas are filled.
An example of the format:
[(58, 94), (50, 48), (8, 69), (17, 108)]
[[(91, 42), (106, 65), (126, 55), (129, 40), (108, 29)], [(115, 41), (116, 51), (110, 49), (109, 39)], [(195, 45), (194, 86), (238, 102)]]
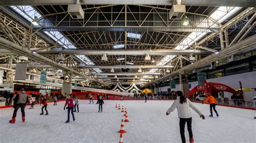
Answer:
[[(79, 99), (82, 101), (89, 101), (89, 99)], [(94, 99), (95, 101), (97, 101), (97, 99)], [(105, 101), (120, 101), (120, 99), (104, 99)], [(63, 102), (65, 100), (59, 100), (59, 102)], [(145, 99), (124, 99), (124, 101), (145, 101)], [(147, 99), (147, 101), (174, 101), (174, 99)], [(46, 103), (52, 103), (54, 101), (48, 101)], [(198, 101), (191, 101), (193, 103), (201, 103)], [(38, 104), (38, 103), (36, 103)], [(36, 105), (35, 104), (35, 105)], [(208, 104), (208, 103), (205, 103)], [(225, 105), (225, 104), (218, 104), (219, 106), (226, 106), (226, 107), (230, 107), (230, 108), (239, 108), (239, 109), (247, 109), (247, 110), (256, 110), (256, 108), (248, 108), (248, 107), (241, 107), (241, 106), (233, 106), (233, 105)], [(4, 109), (4, 108), (12, 108), (13, 105), (11, 106), (0, 106), (0, 109)]]

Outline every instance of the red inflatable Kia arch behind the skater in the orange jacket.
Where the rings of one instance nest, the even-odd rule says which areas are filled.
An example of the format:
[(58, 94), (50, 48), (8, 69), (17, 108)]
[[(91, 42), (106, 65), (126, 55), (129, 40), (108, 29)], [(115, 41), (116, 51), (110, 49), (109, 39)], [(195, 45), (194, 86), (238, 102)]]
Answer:
[(199, 91), (210, 93), (211, 95), (213, 93), (222, 92), (222, 91), (231, 92), (232, 94), (237, 94), (237, 91), (235, 91), (231, 87), (228, 87), (227, 85), (222, 83), (206, 82), (206, 80), (204, 80), (203, 83), (204, 83), (203, 85), (197, 85), (190, 92), (188, 92), (187, 97), (190, 97), (190, 95), (192, 95), (194, 92), (199, 92)]

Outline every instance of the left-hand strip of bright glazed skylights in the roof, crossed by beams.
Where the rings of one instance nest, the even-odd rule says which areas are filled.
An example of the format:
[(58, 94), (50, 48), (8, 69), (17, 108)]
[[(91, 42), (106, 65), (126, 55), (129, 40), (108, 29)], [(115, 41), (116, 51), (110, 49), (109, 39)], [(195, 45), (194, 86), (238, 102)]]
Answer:
[[(39, 19), (42, 18), (42, 15), (40, 13), (38, 13), (35, 9), (33, 9), (32, 6), (27, 6), (27, 5), (26, 6), (24, 6), (24, 5), (22, 5), (22, 6), (11, 6), (11, 8), (14, 9), (20, 15), (22, 15), (29, 22), (32, 22), (33, 18), (35, 16), (38, 17)], [(39, 23), (40, 23), (40, 20), (39, 20)], [(62, 45), (64, 48), (70, 48), (70, 49), (77, 48), (68, 39), (66, 39), (64, 37), (64, 35), (62, 33), (60, 33), (59, 31), (44, 31), (44, 33), (47, 34), (53, 40), (55, 40), (59, 45)], [(80, 60), (84, 61), (86, 63), (86, 65), (95, 65), (95, 63), (93, 63), (85, 55), (76, 55), (76, 56)], [(97, 73), (102, 72), (102, 70), (100, 70), (98, 68), (93, 69), (93, 70), (95, 70)]]

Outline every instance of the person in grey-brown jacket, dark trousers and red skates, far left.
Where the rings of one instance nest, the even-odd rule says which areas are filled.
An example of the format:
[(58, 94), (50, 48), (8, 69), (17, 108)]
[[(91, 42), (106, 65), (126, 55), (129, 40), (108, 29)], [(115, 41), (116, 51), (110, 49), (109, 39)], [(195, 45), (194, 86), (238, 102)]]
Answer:
[(15, 123), (16, 115), (19, 108), (21, 108), (22, 112), (22, 121), (25, 121), (25, 107), (28, 102), (28, 95), (26, 94), (24, 88), (14, 96), (14, 114), (12, 115), (12, 119), (9, 120), (9, 123)]

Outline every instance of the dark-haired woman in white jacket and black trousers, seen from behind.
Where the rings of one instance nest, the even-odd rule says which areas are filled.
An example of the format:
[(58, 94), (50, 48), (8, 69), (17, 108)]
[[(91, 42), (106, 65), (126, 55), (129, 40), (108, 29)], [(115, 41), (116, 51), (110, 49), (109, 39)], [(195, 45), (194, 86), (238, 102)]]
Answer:
[(172, 106), (166, 111), (166, 115), (169, 115), (176, 108), (178, 111), (179, 117), (179, 128), (180, 128), (180, 136), (182, 142), (186, 142), (185, 140), (185, 124), (187, 123), (188, 134), (190, 135), (190, 142), (193, 143), (193, 133), (191, 128), (192, 116), (190, 108), (198, 113), (198, 115), (205, 119), (204, 115), (190, 102), (189, 99), (185, 98), (182, 91), (177, 91), (177, 99), (173, 102)]

